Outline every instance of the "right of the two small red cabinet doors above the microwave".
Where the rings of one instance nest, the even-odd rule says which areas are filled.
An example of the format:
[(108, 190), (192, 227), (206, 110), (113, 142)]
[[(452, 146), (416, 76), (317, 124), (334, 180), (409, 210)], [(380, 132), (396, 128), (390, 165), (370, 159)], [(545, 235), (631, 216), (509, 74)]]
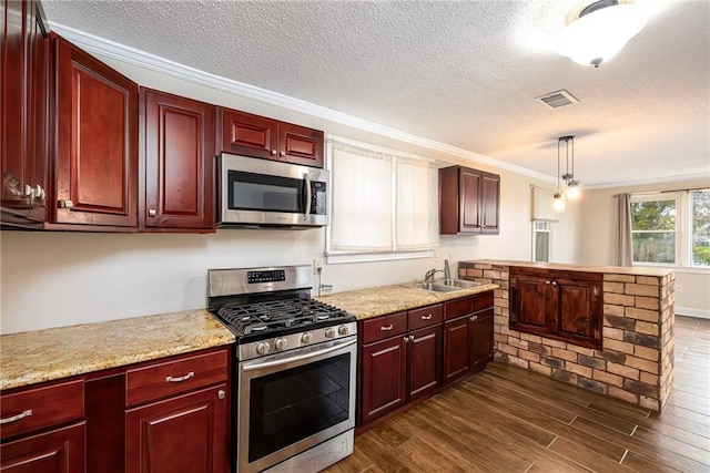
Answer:
[(323, 167), (323, 132), (293, 125), (278, 124), (278, 161)]

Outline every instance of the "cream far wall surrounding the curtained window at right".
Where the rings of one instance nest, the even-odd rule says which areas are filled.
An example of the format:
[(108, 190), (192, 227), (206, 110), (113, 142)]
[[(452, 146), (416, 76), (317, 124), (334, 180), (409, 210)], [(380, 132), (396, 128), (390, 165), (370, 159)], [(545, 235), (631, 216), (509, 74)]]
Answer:
[[(645, 184), (626, 187), (609, 187), (587, 191), (579, 215), (579, 263), (582, 265), (613, 265), (616, 234), (616, 198), (622, 193), (649, 191), (672, 191), (682, 188), (710, 187), (710, 178), (693, 181)], [(710, 318), (710, 270), (676, 267), (676, 313)]]

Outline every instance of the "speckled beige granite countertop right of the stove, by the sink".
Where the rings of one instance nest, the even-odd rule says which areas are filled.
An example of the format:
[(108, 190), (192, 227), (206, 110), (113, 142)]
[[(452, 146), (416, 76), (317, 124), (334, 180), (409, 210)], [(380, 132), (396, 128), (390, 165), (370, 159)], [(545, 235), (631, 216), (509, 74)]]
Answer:
[(497, 289), (498, 287), (498, 285), (494, 284), (481, 284), (480, 286), (469, 289), (452, 292), (432, 292), (424, 289), (393, 285), (328, 294), (316, 297), (316, 299), (343, 309), (357, 317), (358, 320), (363, 320), (371, 317), (384, 316), (385, 313), (399, 312), (457, 299), (459, 297), (486, 292)]

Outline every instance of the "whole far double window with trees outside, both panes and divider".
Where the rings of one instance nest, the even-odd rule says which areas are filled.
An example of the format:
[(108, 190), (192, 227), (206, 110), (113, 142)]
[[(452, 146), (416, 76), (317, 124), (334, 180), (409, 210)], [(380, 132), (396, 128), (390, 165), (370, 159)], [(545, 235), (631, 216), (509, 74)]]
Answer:
[(710, 267), (710, 191), (633, 195), (633, 263)]

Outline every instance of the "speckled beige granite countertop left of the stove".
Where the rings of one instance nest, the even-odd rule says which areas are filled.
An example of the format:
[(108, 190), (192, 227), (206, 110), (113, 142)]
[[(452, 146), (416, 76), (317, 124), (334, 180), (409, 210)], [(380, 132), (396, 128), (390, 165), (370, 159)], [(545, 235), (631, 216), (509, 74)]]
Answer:
[(0, 337), (0, 389), (233, 343), (204, 309)]

